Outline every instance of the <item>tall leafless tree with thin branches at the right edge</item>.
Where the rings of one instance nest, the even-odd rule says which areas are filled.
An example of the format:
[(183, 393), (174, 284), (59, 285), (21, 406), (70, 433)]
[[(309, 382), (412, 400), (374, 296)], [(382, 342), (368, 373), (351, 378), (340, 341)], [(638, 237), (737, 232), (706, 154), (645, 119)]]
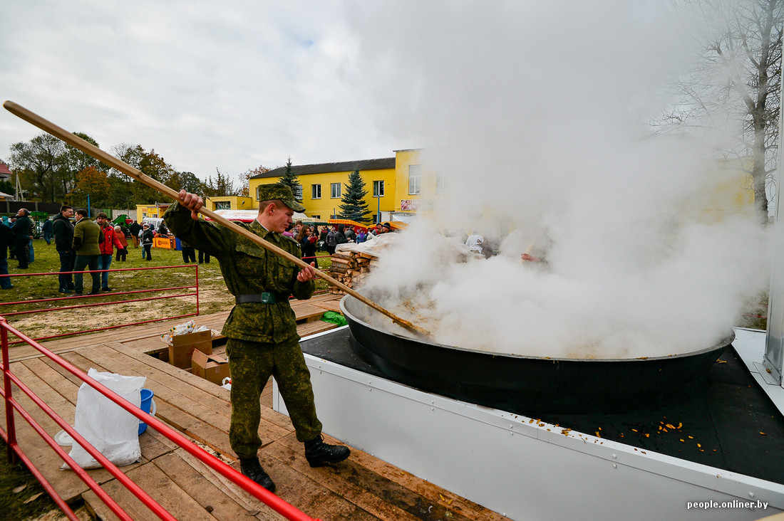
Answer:
[[(750, 175), (754, 206), (768, 221), (768, 193), (779, 145), (784, 0), (677, 0), (701, 13), (695, 37), (704, 42), (699, 66), (675, 83), (681, 103), (660, 130), (733, 128), (720, 156), (738, 159)], [(767, 188), (771, 190), (766, 190)]]

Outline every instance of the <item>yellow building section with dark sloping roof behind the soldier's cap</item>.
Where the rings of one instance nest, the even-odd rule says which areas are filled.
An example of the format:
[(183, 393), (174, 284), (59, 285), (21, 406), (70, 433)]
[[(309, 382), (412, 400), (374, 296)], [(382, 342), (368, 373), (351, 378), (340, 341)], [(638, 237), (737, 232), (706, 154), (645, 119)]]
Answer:
[[(377, 214), (393, 212), (397, 206), (395, 197), (396, 171), (395, 158), (341, 161), (338, 163), (319, 163), (317, 165), (292, 165), (292, 173), (302, 186), (302, 193), (295, 197), (302, 201), (305, 214), (316, 219), (331, 219), (340, 213), (340, 200), (346, 190), (348, 176), (358, 170), (365, 181), (368, 195), (365, 202), (371, 212), (369, 217), (376, 222)], [(254, 175), (249, 179), (250, 194), (255, 204), (259, 201), (259, 187), (278, 183), (285, 167)]]

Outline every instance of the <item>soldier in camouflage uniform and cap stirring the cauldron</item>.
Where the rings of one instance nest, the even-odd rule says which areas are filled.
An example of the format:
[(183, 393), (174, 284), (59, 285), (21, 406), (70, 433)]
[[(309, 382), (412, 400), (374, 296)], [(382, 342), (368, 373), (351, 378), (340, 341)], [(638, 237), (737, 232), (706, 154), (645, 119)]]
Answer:
[[(259, 215), (240, 226), (301, 259), (299, 244), (281, 233), (292, 222), (294, 211), (305, 208), (281, 183), (262, 186), (260, 199)], [(321, 436), (310, 371), (289, 306), (289, 295), (302, 300), (313, 294), (315, 271), (300, 269), (238, 233), (199, 220), (196, 212), (203, 204), (201, 197), (181, 190), (180, 201), (169, 206), (164, 219), (176, 237), (219, 260), (223, 279), (236, 299), (223, 325), (231, 371), (229, 441), (242, 473), (272, 491), (275, 484), (257, 456), (262, 444), (259, 398), (270, 374), (278, 382), (297, 440), (305, 443), (310, 466), (337, 463), (350, 454), (348, 447), (328, 445)]]

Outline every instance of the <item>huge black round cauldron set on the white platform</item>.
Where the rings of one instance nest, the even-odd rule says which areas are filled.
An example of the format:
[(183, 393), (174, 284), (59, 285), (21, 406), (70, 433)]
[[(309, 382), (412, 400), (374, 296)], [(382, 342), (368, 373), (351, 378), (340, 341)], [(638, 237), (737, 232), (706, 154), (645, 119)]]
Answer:
[[(371, 296), (371, 295), (368, 295)], [(461, 349), (385, 331), (390, 320), (347, 295), (340, 309), (354, 350), (396, 382), (516, 414), (622, 412), (688, 400), (735, 338), (647, 359), (542, 358)], [(395, 326), (397, 327), (397, 326)]]

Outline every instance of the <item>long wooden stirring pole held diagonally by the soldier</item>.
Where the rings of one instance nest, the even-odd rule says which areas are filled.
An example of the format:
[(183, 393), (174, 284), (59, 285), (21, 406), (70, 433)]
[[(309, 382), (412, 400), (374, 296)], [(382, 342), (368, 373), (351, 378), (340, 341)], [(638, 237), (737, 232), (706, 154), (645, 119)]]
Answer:
[[(85, 154), (89, 154), (90, 156), (95, 157), (97, 160), (103, 161), (103, 163), (111, 166), (112, 168), (116, 168), (117, 170), (124, 173), (125, 175), (129, 175), (130, 177), (136, 179), (140, 183), (144, 183), (147, 186), (154, 188), (154, 190), (158, 190), (158, 192), (172, 198), (174, 201), (180, 201), (180, 194), (175, 190), (173, 190), (172, 188), (169, 188), (169, 186), (166, 186), (163, 183), (159, 183), (158, 181), (152, 179), (148, 175), (144, 175), (142, 172), (140, 172), (136, 168), (133, 168), (128, 163), (125, 163), (124, 161), (120, 161), (117, 157), (114, 157), (111, 154), (107, 154), (106, 152), (100, 150), (100, 148), (94, 146), (93, 144), (87, 143), (84, 139), (74, 135), (71, 132), (68, 132), (64, 128), (60, 128), (59, 126), (53, 124), (51, 121), (47, 121), (41, 116), (38, 116), (38, 114), (34, 114), (30, 110), (27, 110), (26, 108), (21, 107), (16, 103), (13, 103), (13, 101), (6, 101), (5, 103), (2, 104), (2, 106), (5, 107), (5, 109), (8, 110), (10, 113), (18, 116), (19, 118), (24, 119), (24, 121), (27, 121), (28, 123), (31, 123), (32, 125), (35, 125), (38, 128), (41, 128), (43, 131), (48, 132), (49, 134), (55, 136), (56, 138), (62, 139), (65, 143), (71, 145), (71, 147), (78, 148), (79, 150), (82, 150), (82, 152), (84, 152)], [(270, 243), (269, 241), (263, 240), (263, 238), (256, 235), (256, 233), (251, 233), (248, 230), (245, 230), (245, 228), (238, 226), (235, 223), (232, 223), (230, 220), (224, 218), (221, 215), (216, 214), (215, 212), (212, 212), (212, 210), (209, 210), (208, 208), (202, 207), (199, 210), (199, 212), (202, 215), (209, 217), (216, 223), (220, 223), (220, 225), (227, 227), (229, 230), (239, 233), (242, 237), (245, 237), (249, 241), (253, 241), (256, 244), (259, 244), (262, 248), (266, 248), (267, 250), (272, 251), (274, 254), (280, 255), (284, 259), (293, 262), (297, 266), (301, 266), (303, 268), (312, 267), (309, 264), (307, 264), (307, 262), (304, 262), (302, 259), (299, 259), (294, 255), (291, 255), (288, 251), (282, 250), (281, 248), (278, 248), (274, 244)], [(411, 322), (409, 322), (408, 320), (402, 319), (401, 317), (397, 317), (397, 315), (395, 315), (391, 311), (379, 306), (378, 304), (376, 304), (376, 302), (373, 302), (369, 298), (365, 297), (365, 295), (361, 295), (358, 291), (354, 291), (353, 289), (349, 288), (346, 284), (338, 282), (332, 277), (329, 277), (326, 273), (324, 273), (321, 270), (315, 270), (315, 271), (317, 277), (320, 277), (321, 279), (326, 280), (328, 284), (331, 284), (332, 286), (335, 286), (336, 288), (345, 291), (347, 294), (356, 298), (360, 302), (363, 302), (366, 305), (372, 307), (373, 309), (376, 309), (376, 311), (378, 311), (379, 313), (383, 313), (387, 317), (390, 317), (390, 319), (392, 319), (396, 324), (400, 324), (402, 327), (405, 327), (409, 331), (413, 331), (417, 335), (424, 335), (426, 337), (430, 336), (430, 334), (422, 327), (416, 326)]]

